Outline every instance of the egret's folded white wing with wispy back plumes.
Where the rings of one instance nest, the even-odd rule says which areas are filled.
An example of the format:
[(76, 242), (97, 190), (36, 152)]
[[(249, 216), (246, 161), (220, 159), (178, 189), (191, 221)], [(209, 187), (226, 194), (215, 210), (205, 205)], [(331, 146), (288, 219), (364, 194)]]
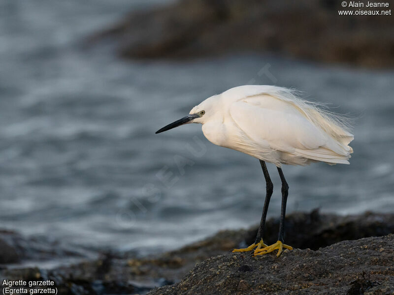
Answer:
[(297, 98), (289, 89), (254, 90), (231, 103), (229, 111), (245, 135), (256, 146), (261, 143), (262, 153), (266, 153), (267, 143), (272, 150), (281, 152), (282, 158), (276, 160), (279, 163), (269, 159), (271, 162), (305, 165), (310, 159), (349, 164), (353, 149), (347, 145), (353, 135), (337, 117)]

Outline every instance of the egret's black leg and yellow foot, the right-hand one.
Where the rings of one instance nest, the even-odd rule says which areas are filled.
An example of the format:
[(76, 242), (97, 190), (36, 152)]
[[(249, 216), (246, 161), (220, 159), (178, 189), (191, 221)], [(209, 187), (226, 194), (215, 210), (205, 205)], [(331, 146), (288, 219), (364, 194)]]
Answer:
[(274, 250), (278, 250), (276, 257), (282, 254), (283, 248), (293, 250), (293, 247), (284, 244), (283, 236), (285, 234), (285, 215), (286, 215), (286, 203), (287, 196), (289, 195), (289, 185), (286, 182), (285, 176), (283, 175), (282, 169), (278, 167), (280, 179), (282, 180), (282, 207), (280, 212), (280, 223), (279, 223), (279, 236), (278, 241), (268, 247), (256, 249), (254, 255), (263, 255), (270, 253)]

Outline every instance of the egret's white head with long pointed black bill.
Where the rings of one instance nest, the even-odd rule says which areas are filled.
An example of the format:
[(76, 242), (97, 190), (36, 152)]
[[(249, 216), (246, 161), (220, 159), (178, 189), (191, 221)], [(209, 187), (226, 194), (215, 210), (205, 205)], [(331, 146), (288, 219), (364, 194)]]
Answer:
[(208, 118), (212, 117), (212, 115), (215, 112), (215, 105), (216, 105), (216, 97), (215, 96), (211, 96), (207, 99), (205, 99), (203, 102), (201, 102), (199, 105), (195, 106), (189, 113), (189, 115), (176, 120), (175, 122), (172, 122), (171, 124), (168, 124), (166, 126), (164, 126), (162, 129), (156, 131), (157, 133), (161, 133), (164, 131), (167, 131), (169, 129), (178, 127), (180, 125), (184, 125), (184, 124), (189, 124), (189, 123), (201, 123), (203, 124), (204, 122), (207, 121)]

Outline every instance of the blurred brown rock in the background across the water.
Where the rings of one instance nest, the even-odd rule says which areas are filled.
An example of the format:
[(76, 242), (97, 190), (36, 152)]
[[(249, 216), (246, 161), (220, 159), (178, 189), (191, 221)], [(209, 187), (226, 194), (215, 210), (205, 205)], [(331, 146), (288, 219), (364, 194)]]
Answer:
[[(366, 67), (393, 67), (394, 18), (339, 15), (333, 0), (180, 0), (130, 13), (89, 39), (131, 59), (271, 52)], [(362, 8), (363, 10), (376, 8)], [(390, 9), (387, 8), (387, 9)]]

